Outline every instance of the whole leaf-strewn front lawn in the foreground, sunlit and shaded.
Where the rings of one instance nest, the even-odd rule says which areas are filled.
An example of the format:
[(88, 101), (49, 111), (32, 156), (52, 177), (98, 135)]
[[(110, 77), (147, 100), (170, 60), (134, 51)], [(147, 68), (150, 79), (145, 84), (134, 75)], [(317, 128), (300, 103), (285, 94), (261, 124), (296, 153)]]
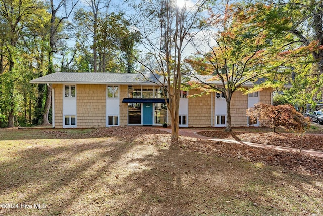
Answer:
[(323, 215), (321, 175), (169, 141), (142, 127), (0, 129), (0, 215)]

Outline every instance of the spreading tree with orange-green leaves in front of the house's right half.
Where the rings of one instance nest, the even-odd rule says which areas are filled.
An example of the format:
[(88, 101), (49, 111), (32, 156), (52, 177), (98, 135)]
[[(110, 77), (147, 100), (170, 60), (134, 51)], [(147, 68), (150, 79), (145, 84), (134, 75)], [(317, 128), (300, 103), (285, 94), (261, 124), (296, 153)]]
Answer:
[[(192, 67), (187, 75), (197, 80), (190, 82), (191, 88), (216, 91), (226, 99), (226, 131), (232, 130), (230, 104), (233, 93), (261, 90), (266, 83), (249, 92), (244, 85), (259, 78), (270, 78), (272, 72), (288, 61), (286, 56), (280, 55), (281, 47), (274, 44), (275, 38), (281, 36), (279, 26), (287, 22), (273, 16), (277, 13), (275, 10), (263, 4), (230, 5), (229, 1), (223, 9), (210, 10), (210, 18), (204, 21), (210, 27), (198, 38), (202, 42), (194, 41), (197, 55), (186, 59)], [(268, 22), (275, 26), (268, 29)], [(214, 81), (219, 84), (212, 84)]]

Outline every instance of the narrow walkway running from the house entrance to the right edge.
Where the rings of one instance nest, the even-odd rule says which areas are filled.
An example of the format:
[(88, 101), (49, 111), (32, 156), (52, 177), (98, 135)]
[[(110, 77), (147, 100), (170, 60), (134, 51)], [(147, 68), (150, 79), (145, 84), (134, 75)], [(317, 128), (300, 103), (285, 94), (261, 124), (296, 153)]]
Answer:
[[(172, 129), (170, 128), (160, 128), (163, 131), (167, 131), (169, 133), (172, 133)], [(206, 136), (202, 136), (197, 134), (200, 131), (200, 129), (180, 129), (179, 135), (186, 136), (186, 137), (193, 137), (197, 139), (206, 139), (206, 140), (213, 140), (213, 141), (221, 141), (225, 143), (236, 143), (240, 145), (248, 145), (248, 146), (254, 146), (259, 148), (267, 148), (267, 149), (274, 149), (274, 150), (280, 150), (280, 151), (291, 151), (291, 152), (297, 152), (299, 149), (293, 148), (293, 147), (284, 147), (284, 146), (274, 146), (274, 145), (267, 145), (267, 144), (260, 144), (260, 143), (251, 143), (251, 142), (245, 142), (245, 141), (236, 141), (236, 140), (226, 140), (226, 139), (217, 139), (217, 138), (210, 138)], [(302, 149), (302, 154), (309, 154), (314, 157), (322, 157), (323, 158), (323, 151), (319, 150), (312, 150), (312, 149)]]

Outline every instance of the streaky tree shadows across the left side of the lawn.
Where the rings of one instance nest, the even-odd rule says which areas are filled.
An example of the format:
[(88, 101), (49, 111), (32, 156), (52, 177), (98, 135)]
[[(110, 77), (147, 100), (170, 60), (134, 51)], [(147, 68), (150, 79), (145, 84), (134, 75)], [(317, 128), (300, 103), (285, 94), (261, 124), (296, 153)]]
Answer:
[[(5, 212), (9, 215), (62, 214), (88, 193), (95, 180), (106, 174), (111, 164), (131, 147), (119, 141), (111, 144), (98, 141), (17, 152), (17, 157), (0, 163), (2, 202), (45, 203), (46, 209), (6, 209)], [(0, 213), (3, 213), (1, 209)]]

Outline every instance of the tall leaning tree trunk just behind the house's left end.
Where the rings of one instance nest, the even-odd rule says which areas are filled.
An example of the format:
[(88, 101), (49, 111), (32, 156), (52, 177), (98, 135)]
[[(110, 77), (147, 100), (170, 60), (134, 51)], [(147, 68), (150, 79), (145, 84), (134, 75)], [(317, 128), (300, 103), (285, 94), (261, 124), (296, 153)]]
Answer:
[[(50, 19), (50, 34), (49, 34), (49, 51), (48, 51), (48, 72), (47, 74), (51, 74), (55, 72), (54, 66), (53, 66), (53, 54), (57, 52), (56, 50), (56, 44), (60, 39), (63, 39), (64, 37), (61, 37), (58, 32), (60, 28), (62, 28), (62, 24), (64, 20), (67, 20), (69, 16), (71, 15), (73, 9), (75, 8), (76, 4), (79, 2), (79, 0), (70, 0), (71, 6), (68, 8), (68, 0), (60, 0), (58, 2), (58, 5), (54, 5), (54, 1), (50, 0), (50, 10), (51, 10), (51, 19)], [(57, 17), (57, 13), (62, 12), (61, 17)], [(44, 116), (43, 116), (43, 122), (42, 124), (46, 125), (49, 124), (49, 109), (51, 106), (51, 88), (48, 86), (47, 88), (47, 96), (46, 96), (46, 103), (44, 107)]]

